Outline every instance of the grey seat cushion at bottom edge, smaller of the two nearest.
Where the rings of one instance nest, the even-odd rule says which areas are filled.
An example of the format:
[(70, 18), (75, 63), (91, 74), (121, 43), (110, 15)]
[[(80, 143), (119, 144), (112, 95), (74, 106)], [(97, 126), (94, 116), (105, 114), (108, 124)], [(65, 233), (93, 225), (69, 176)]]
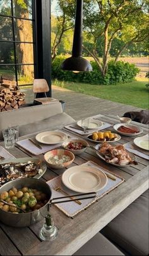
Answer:
[(110, 241), (97, 233), (85, 245), (83, 245), (74, 255), (124, 255)]

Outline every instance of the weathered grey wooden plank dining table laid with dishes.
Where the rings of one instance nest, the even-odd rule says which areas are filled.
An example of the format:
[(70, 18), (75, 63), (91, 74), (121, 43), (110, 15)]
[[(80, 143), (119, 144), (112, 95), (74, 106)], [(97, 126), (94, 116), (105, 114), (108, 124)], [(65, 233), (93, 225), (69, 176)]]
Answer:
[[(119, 123), (116, 116), (102, 116), (100, 121), (108, 122), (112, 126)], [(131, 122), (131, 124), (143, 128), (143, 133), (138, 136), (128, 137), (121, 135), (121, 140), (114, 142), (114, 145), (126, 144), (136, 137), (141, 137), (148, 133), (148, 126), (141, 123)], [(114, 132), (113, 127), (105, 130)], [(70, 136), (85, 138), (86, 135), (79, 135), (66, 128), (61, 128)], [(101, 130), (102, 131), (102, 130)], [(31, 138), (35, 134), (20, 137)], [(95, 147), (95, 143), (88, 140), (88, 143)], [(1, 144), (4, 147), (4, 142)], [(13, 149), (8, 151), (15, 158), (24, 158), (33, 156), (30, 152), (22, 147), (15, 145)], [(33, 156), (35, 157), (35, 156)], [(44, 159), (44, 154), (36, 156)], [(10, 227), (0, 222), (0, 254), (1, 255), (72, 255), (97, 232), (104, 228), (109, 222), (130, 205), (136, 198), (148, 189), (148, 160), (136, 156), (138, 165), (129, 165), (125, 167), (114, 166), (100, 159), (93, 149), (88, 147), (85, 152), (75, 156), (75, 160), (71, 166), (78, 166), (93, 161), (102, 168), (109, 170), (110, 173), (121, 176), (125, 181), (98, 199), (85, 210), (76, 214), (74, 217), (68, 217), (56, 205), (51, 206), (51, 215), (58, 229), (57, 237), (53, 241), (41, 241), (39, 231), (44, 224), (44, 219), (30, 227)], [(47, 166), (47, 171), (40, 178), (47, 180), (54, 179), (57, 175), (61, 175), (66, 168), (52, 169)], [(137, 225), (137, 224), (136, 224)]]

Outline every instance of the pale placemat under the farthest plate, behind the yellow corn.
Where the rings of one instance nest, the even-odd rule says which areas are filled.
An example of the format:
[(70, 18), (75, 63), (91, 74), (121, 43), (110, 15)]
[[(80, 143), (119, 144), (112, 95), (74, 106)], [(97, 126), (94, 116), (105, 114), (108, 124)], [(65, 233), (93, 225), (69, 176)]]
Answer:
[(99, 131), (99, 130), (103, 130), (103, 129), (106, 129), (106, 128), (109, 128), (110, 126), (112, 126), (110, 123), (103, 123), (103, 125), (102, 125), (102, 127), (100, 127), (100, 128), (96, 128), (96, 129), (88, 129), (87, 131), (86, 131), (86, 133), (84, 133), (84, 131), (83, 130), (81, 130), (81, 127), (78, 127), (78, 125), (67, 125), (67, 126), (65, 126), (65, 128), (66, 129), (68, 129), (68, 130), (71, 130), (71, 131), (75, 131), (75, 133), (78, 133), (78, 134), (80, 134), (80, 135), (88, 135), (88, 134), (90, 134), (90, 133), (92, 133), (93, 131)]

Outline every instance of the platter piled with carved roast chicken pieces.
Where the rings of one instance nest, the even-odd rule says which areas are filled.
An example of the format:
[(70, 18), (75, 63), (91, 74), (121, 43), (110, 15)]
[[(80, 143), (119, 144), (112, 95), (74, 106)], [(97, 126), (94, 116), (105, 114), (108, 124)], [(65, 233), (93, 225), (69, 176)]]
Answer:
[(125, 167), (129, 165), (138, 165), (136, 162), (136, 156), (133, 153), (127, 151), (124, 145), (111, 145), (104, 142), (102, 145), (95, 146), (97, 156), (110, 165), (119, 167)]

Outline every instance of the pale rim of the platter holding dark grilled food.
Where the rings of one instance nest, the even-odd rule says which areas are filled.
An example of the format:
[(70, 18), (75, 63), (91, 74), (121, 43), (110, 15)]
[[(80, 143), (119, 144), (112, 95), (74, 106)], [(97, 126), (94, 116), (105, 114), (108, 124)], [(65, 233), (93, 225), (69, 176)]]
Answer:
[(9, 158), (1, 161), (0, 165), (3, 165), (4, 163), (27, 163), (28, 161), (32, 161), (34, 163), (40, 162), (41, 172), (33, 176), (33, 179), (40, 179), (40, 177), (42, 177), (42, 175), (44, 175), (44, 173), (46, 172), (47, 165), (44, 163), (44, 161), (40, 160), (39, 158)]

